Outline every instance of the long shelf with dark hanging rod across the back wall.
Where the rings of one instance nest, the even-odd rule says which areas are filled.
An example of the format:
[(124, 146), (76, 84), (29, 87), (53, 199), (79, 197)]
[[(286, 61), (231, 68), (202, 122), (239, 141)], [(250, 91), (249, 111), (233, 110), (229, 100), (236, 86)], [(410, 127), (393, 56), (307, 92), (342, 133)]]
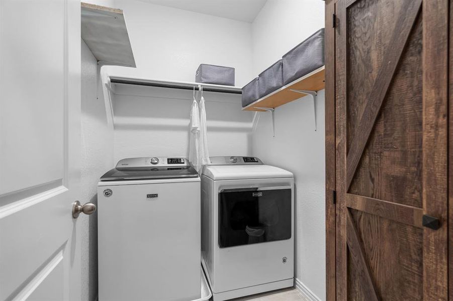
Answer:
[(110, 76), (110, 83), (162, 87), (162, 88), (170, 88), (170, 89), (184, 89), (184, 90), (193, 90), (194, 87), (196, 89), (198, 89), (201, 86), (201, 87), (203, 87), (203, 91), (205, 91), (205, 92), (220, 92), (220, 93), (232, 93), (232, 94), (241, 94), (242, 93), (241, 87), (213, 85), (213, 84), (204, 84), (204, 83), (193, 83), (193, 82), (182, 82), (182, 81), (158, 80), (158, 79), (148, 79), (148, 78), (139, 78), (139, 77)]

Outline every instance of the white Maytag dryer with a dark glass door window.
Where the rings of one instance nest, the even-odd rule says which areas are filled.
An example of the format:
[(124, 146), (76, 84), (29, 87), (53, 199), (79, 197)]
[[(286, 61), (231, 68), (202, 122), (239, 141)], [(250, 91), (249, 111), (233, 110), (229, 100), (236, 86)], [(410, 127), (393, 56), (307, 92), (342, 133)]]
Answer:
[(294, 177), (256, 157), (211, 157), (202, 264), (214, 301), (294, 285)]

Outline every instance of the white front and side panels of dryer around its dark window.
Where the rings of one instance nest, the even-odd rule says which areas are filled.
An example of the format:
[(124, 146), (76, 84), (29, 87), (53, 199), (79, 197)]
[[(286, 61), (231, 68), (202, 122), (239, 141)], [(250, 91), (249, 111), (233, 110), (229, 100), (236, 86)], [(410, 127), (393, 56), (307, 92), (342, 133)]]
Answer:
[[(291, 202), (294, 203), (294, 179), (213, 181), (206, 176), (202, 176), (202, 179), (204, 219), (202, 253), (214, 294), (250, 286), (256, 286), (259, 291), (265, 291), (266, 289), (260, 285), (288, 279), (291, 280), (286, 281), (285, 285), (291, 286), (292, 284), (288, 285), (288, 283), (292, 283), (294, 277), (294, 205), (291, 208), (292, 235), (290, 239), (226, 248), (219, 247), (218, 212), (219, 192), (223, 189), (289, 186), (292, 191)], [(287, 258), (285, 263), (283, 257)], [(239, 295), (241, 294), (235, 296)], [(223, 298), (219, 296), (217, 299)], [(216, 295), (214, 295), (214, 300), (216, 300)]]

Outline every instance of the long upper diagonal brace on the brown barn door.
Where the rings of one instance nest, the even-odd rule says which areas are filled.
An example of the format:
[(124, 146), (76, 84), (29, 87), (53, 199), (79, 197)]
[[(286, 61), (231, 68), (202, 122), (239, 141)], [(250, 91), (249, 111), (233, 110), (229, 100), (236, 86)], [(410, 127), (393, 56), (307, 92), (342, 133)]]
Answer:
[(349, 189), (352, 178), (357, 170), (360, 158), (370, 138), (384, 98), (395, 74), (398, 62), (409, 40), (412, 27), (417, 19), (421, 7), (421, 0), (404, 2), (406, 7), (401, 8), (401, 14), (395, 25), (389, 46), (384, 54), (382, 66), (370, 93), (370, 98), (360, 118), (357, 130), (352, 138), (349, 152), (346, 156), (346, 191)]

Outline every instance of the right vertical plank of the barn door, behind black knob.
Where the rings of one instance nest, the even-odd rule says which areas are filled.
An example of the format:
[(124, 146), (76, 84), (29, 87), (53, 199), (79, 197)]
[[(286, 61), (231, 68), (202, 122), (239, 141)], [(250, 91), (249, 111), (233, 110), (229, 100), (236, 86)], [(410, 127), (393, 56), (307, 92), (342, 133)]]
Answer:
[(423, 210), (440, 219), (423, 231), (423, 296), (447, 296), (448, 2), (423, 1)]

